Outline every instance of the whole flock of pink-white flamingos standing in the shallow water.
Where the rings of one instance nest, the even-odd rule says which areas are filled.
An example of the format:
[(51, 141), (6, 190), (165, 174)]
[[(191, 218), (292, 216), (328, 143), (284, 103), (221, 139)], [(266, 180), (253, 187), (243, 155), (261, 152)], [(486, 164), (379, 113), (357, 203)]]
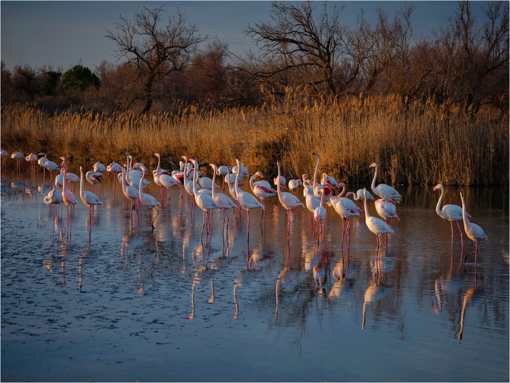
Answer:
[[(329, 177), (326, 173), (323, 173), (322, 180), (317, 182), (317, 172), (319, 169), (319, 161), (320, 155), (317, 153), (313, 153), (314, 156), (317, 157), (317, 165), (315, 167), (315, 173), (313, 180), (309, 180), (306, 174), (302, 175), (302, 180), (290, 180), (288, 183), (289, 192), (282, 192), (282, 187), (286, 187), (286, 180), (281, 175), (280, 170), (280, 162), (277, 161), (278, 166), (278, 176), (274, 178), (273, 182), (276, 187), (276, 190), (272, 188), (270, 183), (265, 180), (254, 181), (254, 178), (260, 177), (264, 178), (262, 173), (257, 172), (253, 174), (250, 179), (250, 187), (253, 194), (244, 192), (239, 188), (240, 184), (243, 184), (243, 178), (249, 177), (248, 171), (244, 164), (236, 158), (237, 166), (234, 166), (233, 169), (230, 169), (228, 165), (217, 166), (213, 163), (209, 165), (212, 167), (213, 179), (209, 177), (201, 176), (203, 172), (198, 171), (198, 162), (195, 158), (190, 158), (186, 156), (182, 156), (181, 158), (184, 161), (181, 161), (181, 169), (179, 171), (169, 172), (161, 168), (161, 156), (159, 153), (155, 153), (155, 156), (158, 157), (158, 167), (156, 170), (152, 171), (152, 177), (154, 182), (157, 185), (160, 185), (160, 201), (163, 199), (164, 191), (163, 187), (167, 189), (167, 199), (170, 199), (170, 187), (179, 186), (181, 189), (181, 198), (182, 194), (182, 186), (186, 189), (186, 192), (192, 197), (193, 203), (196, 203), (200, 209), (203, 210), (203, 223), (202, 223), (202, 236), (204, 227), (207, 228), (207, 235), (211, 231), (212, 228), (212, 214), (210, 212), (213, 209), (221, 209), (223, 211), (223, 225), (225, 221), (225, 217), (227, 219), (227, 230), (228, 230), (228, 215), (227, 211), (235, 208), (244, 208), (247, 212), (248, 217), (248, 236), (249, 236), (249, 225), (250, 225), (250, 210), (261, 208), (263, 209), (263, 214), (265, 214), (265, 205), (264, 199), (268, 197), (272, 197), (277, 195), (279, 202), (282, 206), (287, 210), (288, 216), (288, 235), (290, 233), (290, 214), (291, 210), (297, 206), (307, 207), (311, 214), (313, 214), (314, 218), (314, 229), (318, 230), (318, 224), (320, 222), (320, 233), (319, 240), (322, 234), (322, 223), (326, 218), (326, 209), (324, 208), (324, 204), (329, 206), (333, 206), (335, 211), (342, 217), (342, 226), (344, 223), (344, 219), (346, 222), (346, 227), (342, 227), (342, 238), (343, 233), (346, 233), (346, 241), (350, 236), (350, 225), (349, 225), (349, 217), (360, 216), (360, 214), (365, 215), (365, 223), (368, 229), (376, 235), (377, 239), (377, 248), (379, 249), (382, 246), (380, 237), (382, 235), (388, 235), (389, 233), (395, 233), (393, 229), (388, 225), (388, 218), (398, 218), (395, 202), (400, 202), (402, 200), (402, 196), (395, 190), (393, 187), (381, 183), (375, 185), (377, 178), (377, 163), (372, 163), (369, 167), (375, 167), (374, 178), (372, 180), (372, 192), (380, 197), (380, 199), (374, 201), (375, 209), (379, 216), (382, 218), (376, 218), (370, 216), (367, 209), (367, 200), (374, 200), (372, 195), (367, 191), (366, 188), (359, 189), (356, 194), (352, 192), (348, 192), (345, 197), (343, 197), (345, 193), (345, 183), (344, 182), (336, 182), (333, 177)], [(9, 157), (9, 153), (5, 150), (1, 151), (2, 159), (4, 160), (4, 173), (6, 169), (6, 158)], [(95, 205), (103, 205), (103, 202), (94, 194), (94, 184), (100, 184), (101, 178), (105, 177), (104, 172), (112, 172), (117, 174), (118, 182), (122, 185), (122, 192), (126, 199), (131, 201), (132, 209), (138, 209), (140, 204), (143, 205), (147, 210), (147, 220), (148, 223), (154, 228), (154, 221), (158, 217), (159, 210), (157, 206), (161, 205), (158, 199), (153, 196), (144, 193), (143, 188), (148, 185), (150, 182), (145, 179), (145, 175), (149, 174), (147, 168), (136, 162), (133, 164), (133, 156), (129, 153), (124, 153), (126, 157), (126, 163), (119, 165), (117, 162), (112, 162), (108, 166), (104, 166), (103, 164), (96, 162), (93, 165), (94, 170), (89, 171), (85, 175), (85, 179), (92, 186), (92, 192), (88, 192), (84, 187), (84, 176), (83, 176), (83, 166), (80, 166), (80, 177), (73, 173), (67, 172), (67, 166), (65, 163), (65, 158), (60, 157), (62, 160), (61, 164), (50, 161), (46, 158), (45, 153), (33, 154), (31, 153), (29, 156), (24, 157), (20, 152), (14, 152), (10, 155), (11, 158), (17, 160), (17, 174), (19, 176), (19, 161), (21, 159), (25, 159), (32, 163), (32, 172), (35, 172), (35, 162), (37, 161), (39, 165), (43, 167), (44, 177), (46, 169), (50, 172), (50, 179), (53, 180), (53, 172), (59, 171), (60, 173), (55, 178), (55, 183), (52, 183), (52, 188), (50, 189), (48, 195), (44, 197), (44, 202), (47, 205), (52, 205), (54, 208), (55, 205), (60, 203), (64, 203), (67, 206), (67, 213), (70, 216), (71, 212), (69, 211), (69, 207), (77, 204), (77, 199), (74, 197), (74, 183), (80, 182), (80, 198), (82, 202), (87, 205), (89, 209), (89, 216), (91, 214), (91, 208)], [(216, 184), (216, 176), (223, 177), (223, 189), (224, 183), (226, 182), (228, 188), (230, 190), (231, 196), (234, 198), (232, 200), (230, 197), (227, 197), (224, 193), (216, 193), (217, 188), (219, 186)], [(67, 189), (66, 182), (70, 183), (71, 190)], [(305, 197), (305, 204), (299, 201), (299, 199), (294, 194), (296, 190), (303, 186), (303, 195)], [(214, 186), (214, 187), (213, 187)], [(62, 188), (62, 191), (59, 189)], [(336, 196), (334, 189), (342, 187), (342, 192)], [(458, 221), (464, 222), (464, 230), (468, 237), (474, 241), (475, 251), (469, 253), (475, 254), (475, 265), (476, 265), (476, 254), (478, 252), (478, 240), (486, 239), (487, 235), (483, 232), (483, 229), (469, 222), (469, 218), (471, 218), (470, 214), (466, 212), (466, 204), (464, 201), (464, 192), (461, 190), (461, 200), (462, 200), (462, 208), (457, 205), (444, 205), (442, 209), (441, 202), (443, 200), (444, 188), (442, 184), (438, 184), (433, 188), (434, 191), (441, 189), (441, 196), (439, 198), (436, 212), (439, 216), (445, 220), (450, 221), (451, 224), (451, 235), (453, 240), (453, 221), (457, 223), (457, 227), (461, 232), (462, 239), (462, 230), (458, 225)], [(99, 189), (100, 195), (100, 189)], [(352, 196), (354, 200), (363, 200), (363, 210), (361, 210), (356, 204), (349, 199), (349, 196)], [(260, 199), (260, 202), (258, 199)], [(149, 209), (155, 209), (158, 213), (150, 222), (149, 218)], [(72, 210), (71, 210), (72, 211)], [(343, 241), (343, 239), (342, 239)], [(467, 257), (467, 255), (466, 255)], [(465, 258), (464, 258), (465, 259)]]

